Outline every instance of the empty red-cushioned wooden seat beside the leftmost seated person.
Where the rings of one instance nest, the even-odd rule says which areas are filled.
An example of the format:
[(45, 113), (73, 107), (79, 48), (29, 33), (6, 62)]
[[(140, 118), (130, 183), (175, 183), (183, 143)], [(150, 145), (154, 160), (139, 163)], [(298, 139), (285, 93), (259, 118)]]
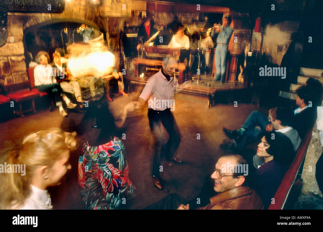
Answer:
[[(4, 87), (6, 97), (10, 98), (10, 100), (13, 100), (14, 102), (19, 104), (19, 112), (20, 116), (24, 117), (24, 112), (27, 111), (33, 111), (36, 113), (35, 109), (35, 98), (38, 96), (36, 92), (30, 90), (30, 83), (29, 81), (23, 81), (19, 83), (12, 83), (7, 84)], [(23, 111), (21, 103), (31, 100), (31, 107), (28, 110)], [(14, 104), (15, 107), (15, 104)]]

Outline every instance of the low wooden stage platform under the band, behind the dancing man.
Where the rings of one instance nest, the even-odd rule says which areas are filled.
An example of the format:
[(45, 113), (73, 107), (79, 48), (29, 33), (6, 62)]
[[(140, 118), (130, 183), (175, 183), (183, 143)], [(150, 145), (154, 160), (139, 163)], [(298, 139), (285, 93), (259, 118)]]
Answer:
[[(131, 92), (134, 89), (134, 86), (145, 86), (149, 77), (140, 78), (135, 77), (134, 74), (125, 76), (124, 79), (127, 80), (129, 85), (128, 91)], [(208, 107), (213, 106), (216, 92), (247, 89), (243, 86), (243, 83), (234, 84), (233, 82), (225, 82), (223, 84), (220, 81), (215, 82), (211, 79), (211, 74), (201, 75), (198, 84), (197, 75), (193, 75), (192, 79), (193, 80), (188, 80), (180, 84), (180, 86), (176, 88), (176, 94), (182, 93), (205, 97), (208, 99)]]

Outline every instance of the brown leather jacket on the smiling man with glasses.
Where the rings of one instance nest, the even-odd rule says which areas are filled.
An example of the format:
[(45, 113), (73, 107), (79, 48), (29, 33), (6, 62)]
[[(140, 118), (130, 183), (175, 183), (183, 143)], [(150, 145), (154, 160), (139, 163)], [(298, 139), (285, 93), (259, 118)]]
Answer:
[(247, 186), (227, 190), (210, 198), (210, 204), (197, 209), (264, 209), (260, 196)]

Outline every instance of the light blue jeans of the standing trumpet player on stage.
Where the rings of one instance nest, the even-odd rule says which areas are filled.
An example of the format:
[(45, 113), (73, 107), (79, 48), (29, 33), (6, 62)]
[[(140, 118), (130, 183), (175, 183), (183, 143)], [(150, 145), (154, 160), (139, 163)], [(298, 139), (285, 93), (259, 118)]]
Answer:
[(223, 83), (225, 81), (226, 73), (226, 57), (228, 53), (228, 45), (218, 45), (215, 50), (215, 65), (216, 65), (216, 78)]

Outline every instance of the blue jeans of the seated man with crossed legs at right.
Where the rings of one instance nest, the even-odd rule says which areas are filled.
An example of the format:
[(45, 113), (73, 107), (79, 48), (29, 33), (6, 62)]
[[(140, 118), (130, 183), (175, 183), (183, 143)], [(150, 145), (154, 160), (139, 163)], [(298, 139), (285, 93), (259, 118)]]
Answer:
[[(270, 122), (268, 121), (268, 118), (261, 112), (252, 111), (242, 126), (248, 130), (245, 132), (244, 136), (242, 137), (242, 140), (239, 143), (237, 143), (237, 147), (239, 148), (239, 150), (242, 151), (245, 148), (245, 144), (248, 141), (258, 141), (258, 135), (261, 132), (266, 131), (266, 126), (269, 123)], [(257, 125), (260, 126), (261, 130), (255, 128), (255, 126)]]

